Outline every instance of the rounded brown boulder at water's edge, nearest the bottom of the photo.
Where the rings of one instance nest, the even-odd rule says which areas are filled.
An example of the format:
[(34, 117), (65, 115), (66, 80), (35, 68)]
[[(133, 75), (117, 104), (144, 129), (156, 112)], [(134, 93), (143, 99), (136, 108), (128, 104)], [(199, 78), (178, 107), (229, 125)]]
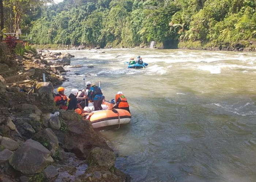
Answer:
[(89, 155), (89, 161), (92, 161), (93, 165), (106, 166), (108, 168), (114, 166), (115, 159), (116, 157), (112, 151), (99, 147), (92, 149)]

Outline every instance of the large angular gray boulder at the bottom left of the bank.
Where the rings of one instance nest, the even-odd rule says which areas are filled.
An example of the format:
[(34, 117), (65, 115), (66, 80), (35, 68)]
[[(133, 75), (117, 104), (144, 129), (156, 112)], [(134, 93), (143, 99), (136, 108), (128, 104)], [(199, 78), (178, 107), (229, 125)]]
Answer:
[(10, 165), (23, 174), (41, 173), (52, 162), (50, 151), (32, 139), (27, 140), (9, 159)]

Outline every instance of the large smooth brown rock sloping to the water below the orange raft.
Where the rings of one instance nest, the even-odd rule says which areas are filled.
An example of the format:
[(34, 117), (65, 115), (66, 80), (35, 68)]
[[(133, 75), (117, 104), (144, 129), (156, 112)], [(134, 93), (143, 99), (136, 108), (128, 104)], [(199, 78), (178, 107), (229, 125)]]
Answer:
[(80, 120), (74, 111), (61, 111), (60, 120), (63, 127), (54, 130), (54, 133), (65, 151), (86, 158), (95, 147), (111, 150), (105, 140), (94, 131), (90, 121)]

